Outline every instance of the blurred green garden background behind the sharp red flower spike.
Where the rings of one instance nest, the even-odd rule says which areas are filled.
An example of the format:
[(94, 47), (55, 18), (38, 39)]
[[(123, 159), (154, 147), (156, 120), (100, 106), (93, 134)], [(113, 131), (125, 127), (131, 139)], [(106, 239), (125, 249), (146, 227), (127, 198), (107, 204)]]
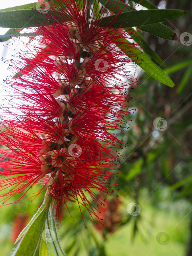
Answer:
[[(59, 237), (70, 256), (192, 255), (192, 2), (151, 2), (159, 8), (187, 11), (166, 25), (178, 38), (189, 33), (188, 44), (143, 33), (176, 87), (165, 86), (139, 70), (138, 85), (131, 91), (130, 109), (135, 111), (130, 115), (130, 128), (115, 131), (118, 139), (129, 144), (120, 152), (124, 157), (120, 162), (126, 163), (118, 167), (123, 172), (118, 176), (120, 190), (113, 192), (114, 197), (100, 195), (106, 198), (105, 206), (99, 206), (104, 227), (94, 225), (82, 209), (86, 229), (76, 203), (69, 205), (72, 217), (61, 207)], [(33, 187), (22, 201), (0, 208), (1, 255), (9, 255), (41, 203), (44, 195), (25, 200), (38, 189)]]

